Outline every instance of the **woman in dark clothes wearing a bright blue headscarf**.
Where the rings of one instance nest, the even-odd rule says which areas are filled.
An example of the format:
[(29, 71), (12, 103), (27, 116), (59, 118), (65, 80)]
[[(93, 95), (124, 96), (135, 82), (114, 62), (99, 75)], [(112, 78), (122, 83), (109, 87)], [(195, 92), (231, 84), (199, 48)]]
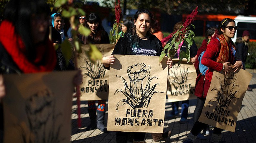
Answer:
[[(52, 43), (53, 46), (61, 44), (65, 40), (63, 25), (64, 21), (60, 13), (54, 13), (51, 15), (52, 18)], [(69, 60), (68, 66), (66, 66), (65, 58), (62, 54), (61, 48), (56, 50), (57, 64), (54, 68), (55, 71), (75, 70), (74, 63)]]

